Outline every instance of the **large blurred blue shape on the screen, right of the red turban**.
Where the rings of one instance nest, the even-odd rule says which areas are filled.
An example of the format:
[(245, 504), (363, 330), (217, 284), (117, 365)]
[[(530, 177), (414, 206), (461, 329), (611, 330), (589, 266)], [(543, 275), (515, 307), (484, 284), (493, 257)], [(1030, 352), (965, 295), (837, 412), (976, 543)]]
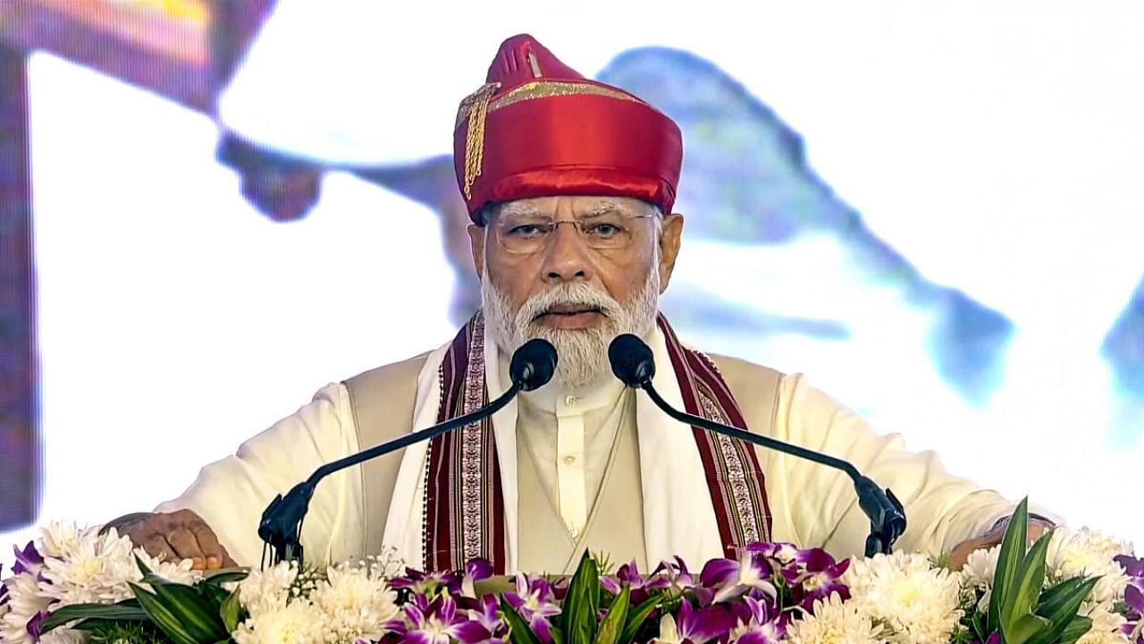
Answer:
[[(834, 236), (856, 269), (937, 315), (930, 350), (938, 371), (970, 402), (988, 398), (1012, 323), (929, 282), (874, 235), (808, 165), (802, 138), (739, 81), (694, 54), (661, 47), (625, 52), (598, 78), (652, 103), (683, 129), (677, 203), (692, 213), (689, 235), (747, 245), (782, 244), (807, 231)], [(805, 332), (823, 330), (818, 323)]]

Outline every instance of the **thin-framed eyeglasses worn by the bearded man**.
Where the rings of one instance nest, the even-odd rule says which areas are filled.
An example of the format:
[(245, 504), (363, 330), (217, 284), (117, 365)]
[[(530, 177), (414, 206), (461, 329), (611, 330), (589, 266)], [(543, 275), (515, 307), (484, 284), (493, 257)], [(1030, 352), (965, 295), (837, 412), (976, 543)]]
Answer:
[(498, 221), (493, 229), (496, 233), (496, 241), (510, 253), (533, 254), (538, 253), (551, 242), (556, 228), (561, 223), (571, 223), (580, 233), (580, 238), (594, 250), (618, 250), (627, 248), (631, 243), (633, 228), (636, 219), (650, 219), (654, 214), (638, 214), (635, 217), (622, 217), (619, 214), (606, 214), (589, 219), (565, 219), (553, 221), (551, 219), (538, 219), (530, 217), (507, 217)]

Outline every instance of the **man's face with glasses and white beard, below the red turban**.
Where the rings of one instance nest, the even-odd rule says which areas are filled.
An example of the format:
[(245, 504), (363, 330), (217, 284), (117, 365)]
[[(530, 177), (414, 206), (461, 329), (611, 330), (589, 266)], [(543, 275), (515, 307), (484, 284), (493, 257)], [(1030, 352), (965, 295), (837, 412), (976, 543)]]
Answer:
[(557, 380), (580, 386), (599, 377), (611, 338), (650, 329), (682, 229), (681, 215), (661, 218), (623, 197), (539, 197), (493, 209), (469, 237), (501, 348), (542, 337), (561, 356)]

